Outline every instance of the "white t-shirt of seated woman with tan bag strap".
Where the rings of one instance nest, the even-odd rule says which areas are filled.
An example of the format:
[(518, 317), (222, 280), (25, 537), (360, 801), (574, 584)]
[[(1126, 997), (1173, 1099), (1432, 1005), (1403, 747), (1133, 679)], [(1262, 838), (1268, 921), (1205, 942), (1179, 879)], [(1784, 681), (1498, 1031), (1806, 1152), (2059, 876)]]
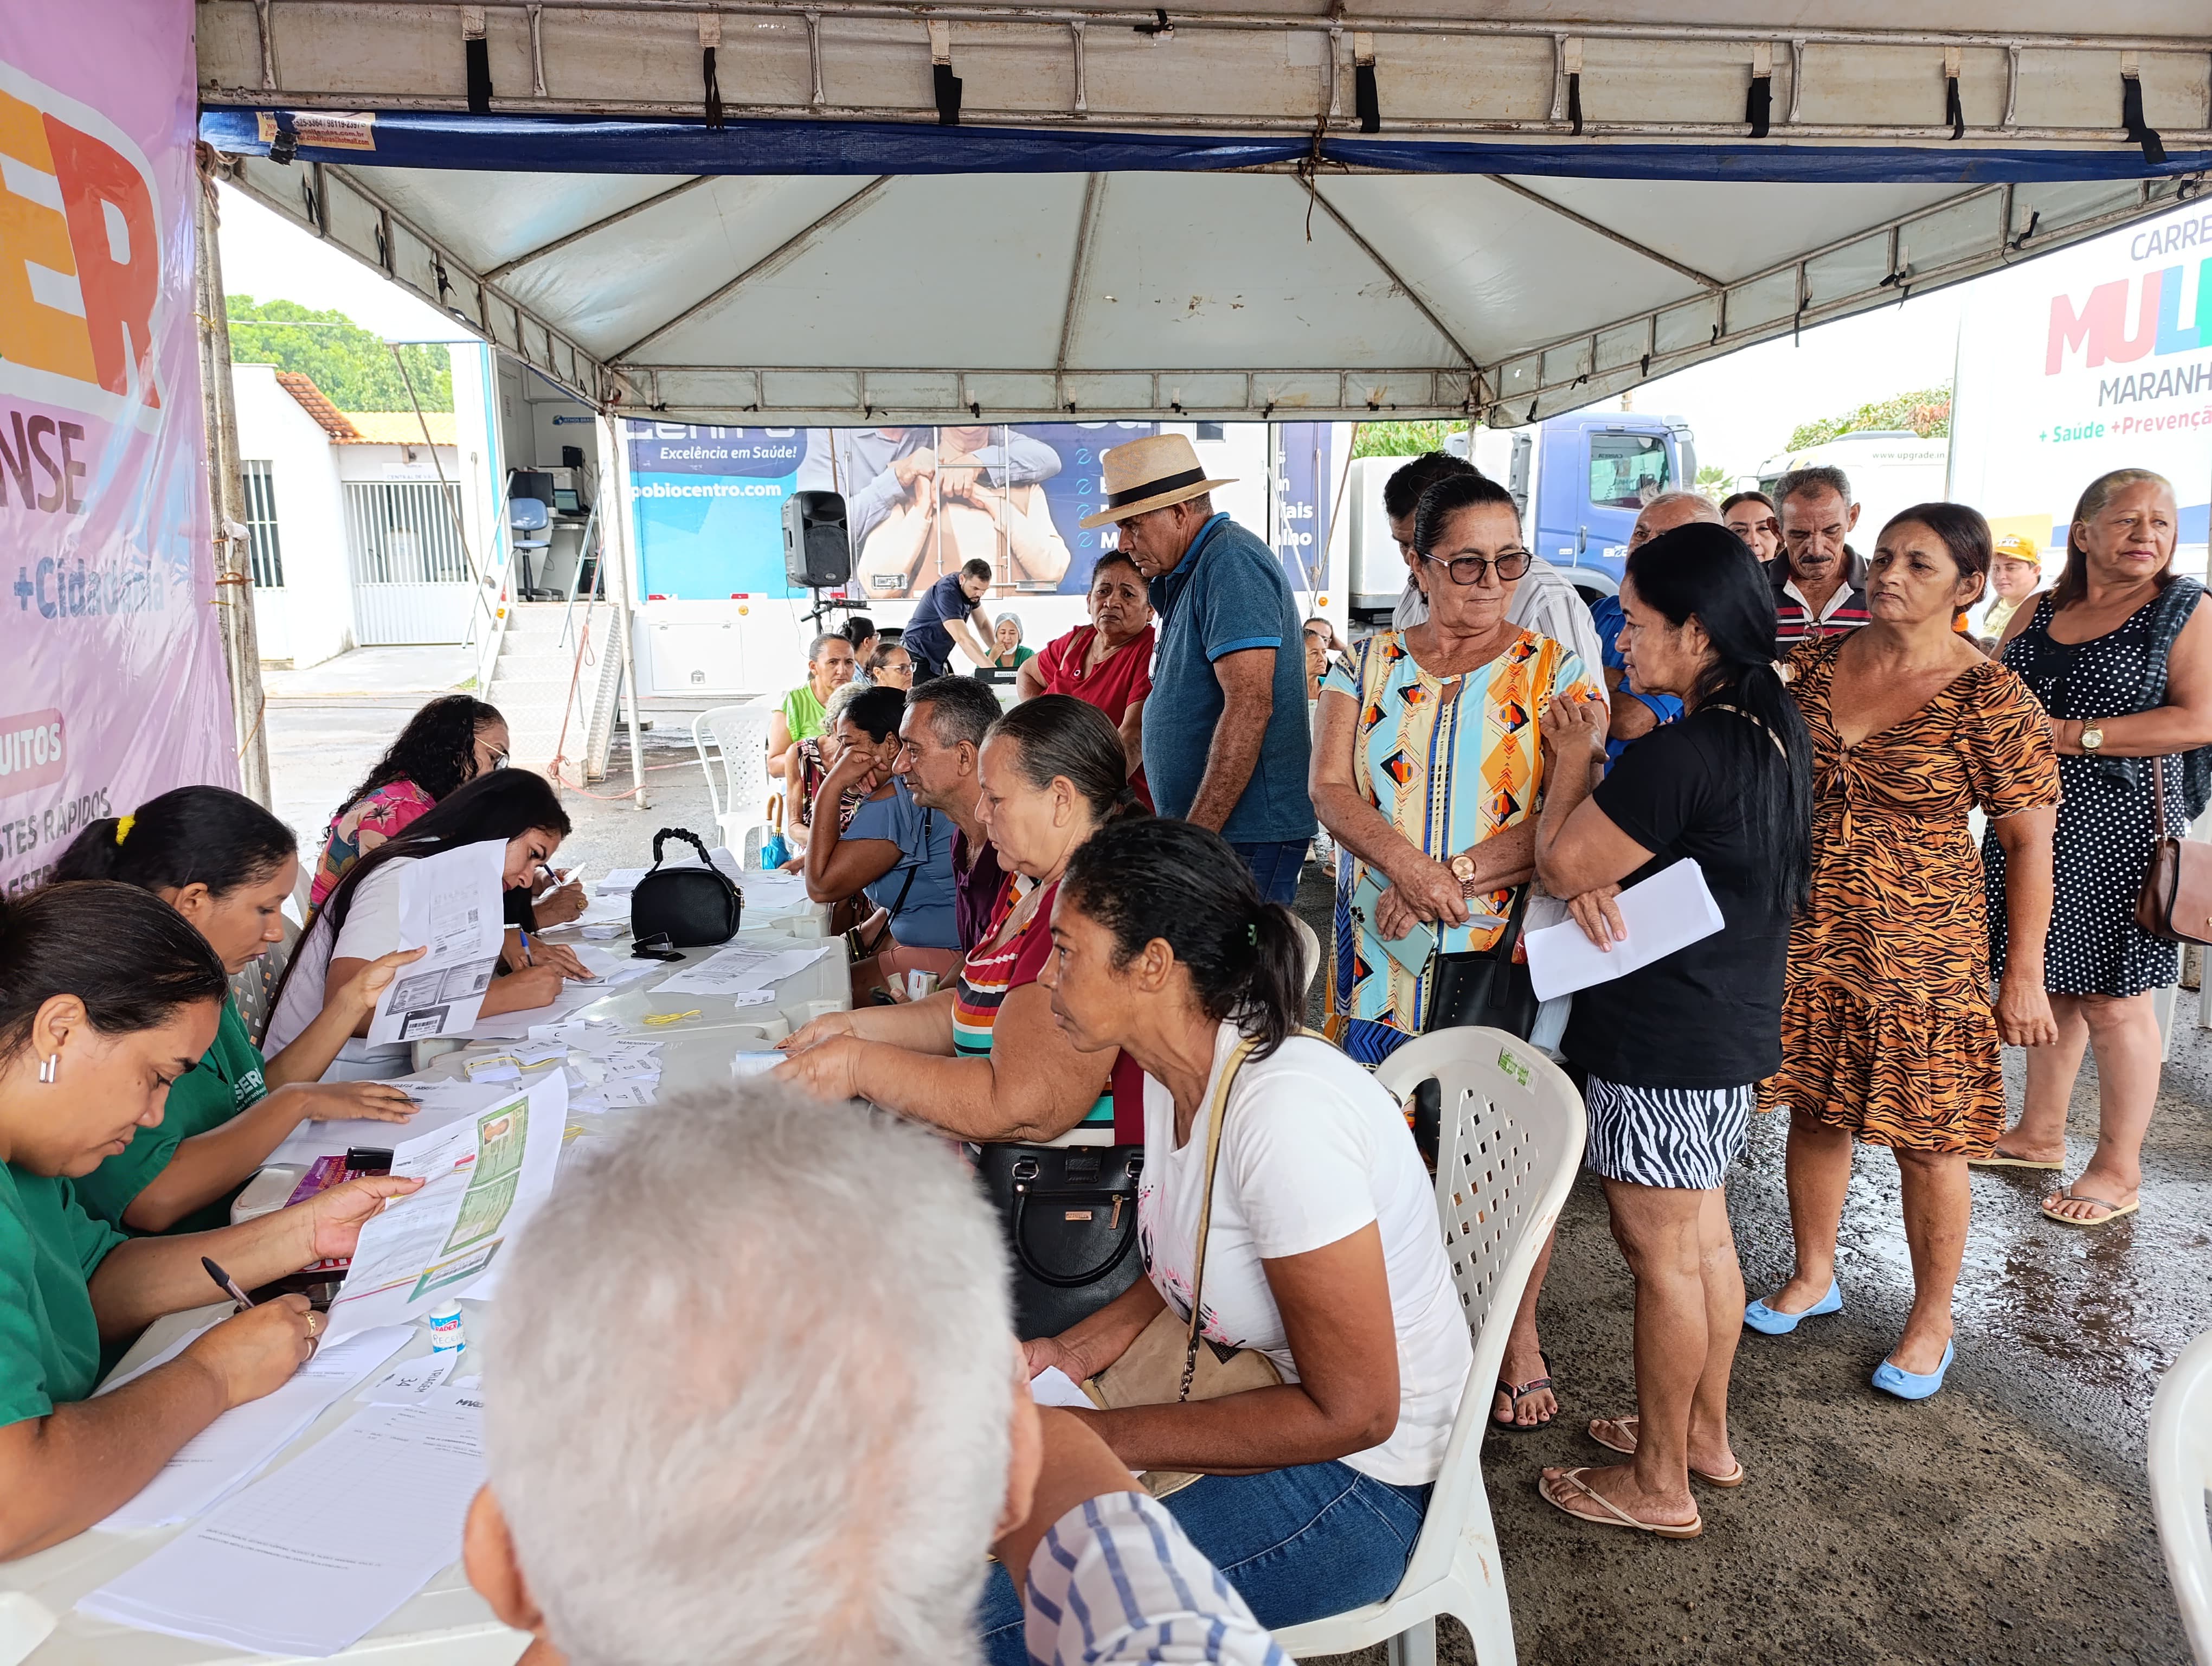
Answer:
[[(1175, 1148), (1175, 1095), (1144, 1077), (1137, 1241), (1152, 1285), (1186, 1316), (1206, 1190), (1206, 1115), (1239, 1040), (1234, 1024), (1221, 1027), (1206, 1102), (1181, 1150)], [(1261, 1350), (1285, 1383), (1296, 1383), (1298, 1367), (1261, 1261), (1318, 1250), (1369, 1221), (1383, 1228), (1398, 1327), (1398, 1427), (1380, 1447), (1345, 1462), (1376, 1480), (1422, 1487), (1444, 1467), (1451, 1420), (1475, 1363), (1444, 1261), (1436, 1184), (1413, 1150), (1398, 1102), (1327, 1042), (1294, 1035), (1272, 1055), (1248, 1060), (1221, 1126), (1203, 1334), (1228, 1347)]]

